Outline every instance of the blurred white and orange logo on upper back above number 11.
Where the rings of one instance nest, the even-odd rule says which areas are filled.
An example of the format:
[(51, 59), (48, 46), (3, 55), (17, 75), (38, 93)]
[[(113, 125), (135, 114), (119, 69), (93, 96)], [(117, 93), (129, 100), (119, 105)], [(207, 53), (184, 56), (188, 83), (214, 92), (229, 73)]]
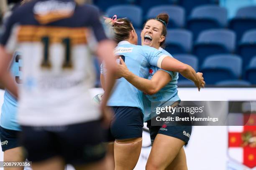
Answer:
[(48, 0), (37, 2), (33, 8), (33, 12), (39, 23), (47, 24), (72, 16), (74, 9), (75, 3), (72, 1)]

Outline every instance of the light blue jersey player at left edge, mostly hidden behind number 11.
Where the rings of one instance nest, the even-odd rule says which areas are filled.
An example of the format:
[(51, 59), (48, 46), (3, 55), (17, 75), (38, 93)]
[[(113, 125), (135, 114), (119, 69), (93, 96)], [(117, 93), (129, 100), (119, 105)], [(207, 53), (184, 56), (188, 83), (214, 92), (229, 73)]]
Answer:
[[(14, 5), (11, 9), (12, 11), (15, 10), (20, 3)], [(6, 13), (5, 18), (10, 13)], [(5, 20), (4, 20), (5, 22)], [(15, 82), (18, 84), (21, 83), (21, 72), (20, 68), (22, 66), (21, 54), (20, 52), (14, 52), (13, 60), (10, 64), (10, 71), (12, 72), (13, 77), (15, 78)], [(4, 102), (1, 108), (1, 119), (0, 119), (0, 140), (1, 140), (1, 147), (2, 151), (4, 152), (4, 159), (5, 162), (23, 162), (25, 158), (23, 157), (23, 150), (21, 145), (18, 141), (20, 135), (20, 125), (18, 125), (17, 120), (17, 100), (13, 95), (5, 90), (4, 94)], [(16, 168), (17, 170), (23, 170), (22, 167)], [(25, 168), (29, 169), (29, 168)]]

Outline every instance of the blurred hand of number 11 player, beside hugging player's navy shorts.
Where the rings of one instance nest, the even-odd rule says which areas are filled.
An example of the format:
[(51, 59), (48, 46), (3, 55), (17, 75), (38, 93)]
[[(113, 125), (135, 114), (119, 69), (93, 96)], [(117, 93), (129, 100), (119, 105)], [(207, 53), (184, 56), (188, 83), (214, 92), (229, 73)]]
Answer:
[(113, 111), (108, 106), (100, 106), (101, 122), (104, 128), (110, 127), (110, 122), (114, 117)]

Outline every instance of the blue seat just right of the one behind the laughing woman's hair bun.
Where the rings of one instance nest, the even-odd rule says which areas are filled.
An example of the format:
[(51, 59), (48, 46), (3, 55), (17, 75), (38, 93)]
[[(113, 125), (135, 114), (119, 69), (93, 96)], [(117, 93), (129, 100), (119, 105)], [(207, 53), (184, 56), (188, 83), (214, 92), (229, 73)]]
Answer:
[(203, 30), (225, 28), (228, 13), (224, 7), (217, 5), (203, 5), (195, 7), (187, 21), (187, 28), (193, 32), (194, 39)]

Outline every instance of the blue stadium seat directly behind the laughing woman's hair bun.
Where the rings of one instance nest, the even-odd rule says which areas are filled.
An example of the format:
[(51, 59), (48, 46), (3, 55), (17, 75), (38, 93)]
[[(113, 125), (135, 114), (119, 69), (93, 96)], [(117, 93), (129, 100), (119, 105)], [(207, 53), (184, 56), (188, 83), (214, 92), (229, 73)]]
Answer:
[(146, 20), (149, 18), (156, 18), (160, 13), (167, 13), (169, 15), (169, 23), (167, 28), (183, 28), (185, 24), (185, 10), (183, 7), (173, 5), (159, 5), (148, 10)]

